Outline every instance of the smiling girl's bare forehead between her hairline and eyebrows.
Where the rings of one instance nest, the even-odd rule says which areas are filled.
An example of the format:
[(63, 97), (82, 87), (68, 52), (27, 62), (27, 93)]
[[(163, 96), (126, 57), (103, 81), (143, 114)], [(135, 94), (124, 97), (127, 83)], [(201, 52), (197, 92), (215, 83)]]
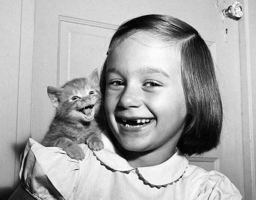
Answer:
[[(107, 73), (113, 71), (143, 71), (144, 68), (180, 74), (180, 62), (177, 48), (148, 35), (133, 35), (108, 54)], [(154, 71), (154, 70), (153, 70)]]

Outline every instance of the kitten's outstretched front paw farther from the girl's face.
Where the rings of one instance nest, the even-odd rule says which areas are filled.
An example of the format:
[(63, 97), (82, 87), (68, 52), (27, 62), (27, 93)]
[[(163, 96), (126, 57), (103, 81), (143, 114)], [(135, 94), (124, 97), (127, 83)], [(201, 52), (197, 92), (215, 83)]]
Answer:
[(63, 150), (65, 152), (67, 152), (67, 154), (70, 158), (74, 158), (76, 160), (84, 159), (83, 149), (78, 144), (76, 144), (74, 141), (72, 141), (68, 138), (65, 138), (65, 137), (61, 137), (55, 141), (55, 144), (56, 145), (54, 145), (54, 146), (63, 148)]

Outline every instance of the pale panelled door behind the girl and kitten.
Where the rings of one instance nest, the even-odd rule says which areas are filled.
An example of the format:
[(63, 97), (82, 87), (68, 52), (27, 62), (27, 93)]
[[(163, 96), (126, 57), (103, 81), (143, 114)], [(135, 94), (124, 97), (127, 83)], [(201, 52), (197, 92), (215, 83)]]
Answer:
[(206, 40), (217, 64), (223, 101), (221, 146), (189, 160), (206, 170), (222, 172), (244, 196), (238, 21), (223, 22), (221, 16), (223, 6), (231, 3), (231, 0), (36, 0), (32, 137), (40, 142), (54, 115), (47, 86), (61, 85), (101, 68), (114, 29), (124, 21), (150, 13), (172, 15), (191, 24)]

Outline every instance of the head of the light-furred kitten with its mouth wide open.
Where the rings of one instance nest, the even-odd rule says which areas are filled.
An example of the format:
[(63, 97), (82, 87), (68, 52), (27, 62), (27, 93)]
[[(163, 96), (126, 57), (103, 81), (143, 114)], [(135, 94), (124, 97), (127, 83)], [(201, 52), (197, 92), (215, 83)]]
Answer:
[[(87, 79), (73, 79), (58, 90), (59, 93), (54, 94), (58, 99), (56, 106), (58, 117), (72, 122), (89, 122), (94, 119), (101, 102), (98, 76), (92, 74)], [(49, 93), (51, 92), (48, 87), (50, 97)]]

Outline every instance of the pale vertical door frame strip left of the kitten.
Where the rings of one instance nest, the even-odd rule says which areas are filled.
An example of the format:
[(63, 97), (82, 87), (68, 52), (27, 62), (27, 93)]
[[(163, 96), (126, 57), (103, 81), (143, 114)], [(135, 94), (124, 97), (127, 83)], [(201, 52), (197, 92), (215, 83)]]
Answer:
[(21, 1), (14, 188), (20, 183), (20, 154), (31, 137), (35, 0)]

